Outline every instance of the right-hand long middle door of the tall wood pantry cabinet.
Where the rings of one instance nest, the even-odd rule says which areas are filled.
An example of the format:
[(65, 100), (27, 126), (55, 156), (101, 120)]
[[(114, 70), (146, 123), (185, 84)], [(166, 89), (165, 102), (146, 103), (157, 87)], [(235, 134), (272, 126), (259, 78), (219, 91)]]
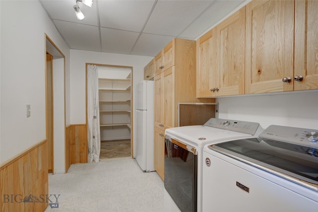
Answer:
[[(175, 66), (163, 71), (163, 126), (164, 129), (176, 127), (174, 108), (174, 69)], [(162, 98), (161, 98), (162, 99)]]

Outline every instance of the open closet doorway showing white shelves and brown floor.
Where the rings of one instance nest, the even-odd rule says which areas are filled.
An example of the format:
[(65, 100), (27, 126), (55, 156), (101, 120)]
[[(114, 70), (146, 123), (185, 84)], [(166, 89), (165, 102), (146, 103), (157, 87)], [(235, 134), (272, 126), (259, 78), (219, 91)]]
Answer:
[(98, 71), (99, 159), (132, 157), (132, 67), (87, 65)]

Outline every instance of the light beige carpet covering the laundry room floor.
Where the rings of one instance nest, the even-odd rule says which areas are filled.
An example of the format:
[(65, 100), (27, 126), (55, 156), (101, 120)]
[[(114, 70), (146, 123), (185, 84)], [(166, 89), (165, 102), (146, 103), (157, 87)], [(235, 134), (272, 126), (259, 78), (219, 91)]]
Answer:
[(77, 163), (67, 174), (49, 175), (58, 208), (45, 212), (163, 212), (163, 191), (157, 172), (143, 172), (135, 159)]

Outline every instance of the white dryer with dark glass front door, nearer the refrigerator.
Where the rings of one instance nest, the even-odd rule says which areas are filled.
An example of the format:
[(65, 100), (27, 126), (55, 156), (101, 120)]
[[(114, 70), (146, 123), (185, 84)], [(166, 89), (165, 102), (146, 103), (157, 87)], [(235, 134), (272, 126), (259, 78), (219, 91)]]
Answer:
[(256, 137), (262, 131), (258, 123), (215, 118), (202, 126), (165, 130), (168, 155), (164, 162), (164, 211), (202, 211), (205, 145)]

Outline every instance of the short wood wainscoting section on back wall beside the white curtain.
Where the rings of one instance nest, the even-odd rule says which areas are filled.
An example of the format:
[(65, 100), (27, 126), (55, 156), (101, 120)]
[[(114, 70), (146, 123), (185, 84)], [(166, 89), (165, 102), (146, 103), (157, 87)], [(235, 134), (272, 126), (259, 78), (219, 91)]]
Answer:
[[(86, 125), (70, 125), (66, 128), (66, 169), (71, 164), (87, 163)], [(66, 172), (67, 172), (66, 170)]]

